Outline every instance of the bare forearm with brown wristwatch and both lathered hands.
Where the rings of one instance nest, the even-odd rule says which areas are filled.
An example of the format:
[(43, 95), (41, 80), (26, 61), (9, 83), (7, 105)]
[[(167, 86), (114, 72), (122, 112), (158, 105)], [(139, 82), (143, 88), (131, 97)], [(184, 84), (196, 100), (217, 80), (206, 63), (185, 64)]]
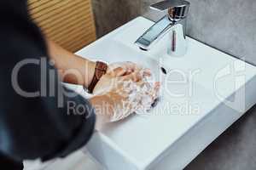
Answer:
[[(90, 99), (90, 104), (100, 110), (96, 111), (99, 123), (102, 123), (102, 120), (103, 122), (119, 121), (137, 111), (138, 107), (146, 107), (146, 105), (142, 105), (142, 99), (137, 99), (137, 103), (131, 104), (129, 94), (136, 89), (125, 88), (124, 83), (133, 82), (133, 88), (139, 90), (148, 84), (143, 81), (143, 77), (150, 77), (150, 70), (143, 69), (140, 65), (129, 61), (111, 65), (93, 62), (69, 53), (54, 42), (48, 41), (48, 44), (50, 59), (55, 61), (55, 67), (63, 82), (83, 85), (90, 94), (95, 94)], [(71, 70), (76, 72), (66, 74)], [(156, 82), (154, 87), (148, 89), (147, 94), (143, 94), (151, 99), (148, 105), (151, 105), (157, 98), (159, 88), (160, 83)], [(131, 108), (131, 105), (135, 108)], [(119, 111), (117, 111), (117, 107), (119, 107)]]

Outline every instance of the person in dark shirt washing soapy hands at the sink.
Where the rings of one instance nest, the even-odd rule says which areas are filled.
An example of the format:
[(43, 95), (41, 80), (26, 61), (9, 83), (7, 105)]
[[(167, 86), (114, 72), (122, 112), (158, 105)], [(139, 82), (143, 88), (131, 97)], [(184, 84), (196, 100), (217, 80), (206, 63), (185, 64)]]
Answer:
[[(27, 159), (67, 156), (88, 142), (96, 120), (119, 121), (157, 97), (160, 84), (144, 81), (150, 71), (131, 62), (83, 59), (47, 40), (29, 18), (25, 0), (3, 0), (0, 8), (0, 165), (5, 169), (22, 169)], [(61, 82), (83, 85), (94, 95), (71, 96)], [(68, 102), (88, 109), (83, 115), (70, 112)]]

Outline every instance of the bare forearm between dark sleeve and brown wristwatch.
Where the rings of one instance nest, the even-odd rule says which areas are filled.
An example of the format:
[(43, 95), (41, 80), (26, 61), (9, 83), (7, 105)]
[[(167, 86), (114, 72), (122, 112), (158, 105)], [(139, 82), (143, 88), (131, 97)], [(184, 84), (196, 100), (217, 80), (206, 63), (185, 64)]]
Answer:
[(90, 85), (94, 75), (96, 63), (68, 52), (55, 42), (47, 40), (50, 58), (62, 77), (63, 82)]

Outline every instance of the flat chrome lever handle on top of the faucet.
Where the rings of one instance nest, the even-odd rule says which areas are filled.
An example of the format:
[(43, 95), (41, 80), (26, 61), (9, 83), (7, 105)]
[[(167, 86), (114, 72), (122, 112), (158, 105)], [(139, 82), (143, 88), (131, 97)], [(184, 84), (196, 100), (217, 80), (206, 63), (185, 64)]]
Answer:
[(178, 21), (186, 18), (189, 13), (190, 3), (185, 0), (165, 0), (150, 6), (155, 10), (164, 11), (168, 9), (169, 19)]

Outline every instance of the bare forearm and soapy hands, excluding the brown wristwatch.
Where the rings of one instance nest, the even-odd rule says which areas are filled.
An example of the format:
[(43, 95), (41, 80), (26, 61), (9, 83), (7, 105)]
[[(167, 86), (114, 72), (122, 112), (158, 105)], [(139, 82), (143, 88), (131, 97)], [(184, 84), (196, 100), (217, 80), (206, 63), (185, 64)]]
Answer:
[[(79, 71), (82, 77), (93, 74), (96, 63), (83, 59), (78, 55), (68, 52), (55, 42), (47, 40), (50, 59), (55, 61), (55, 67), (63, 78), (63, 82), (81, 84), (88, 87), (88, 79), (79, 83), (73, 75), (65, 75), (70, 69)], [(144, 77), (150, 76), (150, 71), (131, 62), (116, 63), (108, 66), (107, 74), (96, 84), (93, 98), (90, 103), (96, 109), (97, 120), (105, 122), (119, 121), (129, 116), (134, 111), (147, 108), (154, 102), (159, 90), (159, 83), (149, 84)]]

